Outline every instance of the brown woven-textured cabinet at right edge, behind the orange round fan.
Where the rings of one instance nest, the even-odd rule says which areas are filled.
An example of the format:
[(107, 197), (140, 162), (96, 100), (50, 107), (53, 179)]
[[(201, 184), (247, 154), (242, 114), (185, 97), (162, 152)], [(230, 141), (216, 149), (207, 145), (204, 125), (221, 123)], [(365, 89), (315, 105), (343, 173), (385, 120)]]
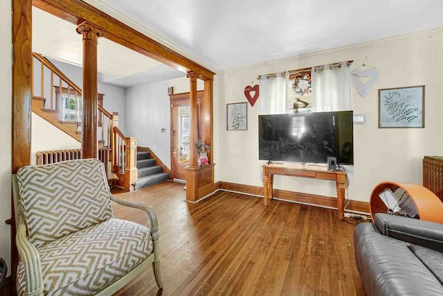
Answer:
[(435, 193), (443, 202), (443, 157), (424, 157), (423, 186)]

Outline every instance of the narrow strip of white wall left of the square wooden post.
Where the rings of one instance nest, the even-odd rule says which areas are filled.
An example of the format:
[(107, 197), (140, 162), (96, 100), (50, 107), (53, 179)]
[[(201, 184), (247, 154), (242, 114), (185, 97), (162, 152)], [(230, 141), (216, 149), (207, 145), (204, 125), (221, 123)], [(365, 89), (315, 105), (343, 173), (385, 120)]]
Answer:
[[(11, 1), (0, 1), (0, 256), (10, 266), (12, 52)], [(10, 271), (8, 270), (8, 275)]]

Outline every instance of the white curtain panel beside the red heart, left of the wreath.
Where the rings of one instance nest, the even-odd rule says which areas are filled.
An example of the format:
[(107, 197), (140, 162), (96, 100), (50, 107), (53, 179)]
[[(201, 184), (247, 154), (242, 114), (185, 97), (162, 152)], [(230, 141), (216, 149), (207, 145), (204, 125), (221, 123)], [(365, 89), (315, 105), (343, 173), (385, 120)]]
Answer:
[(277, 73), (274, 77), (260, 77), (260, 114), (289, 112), (289, 74)]

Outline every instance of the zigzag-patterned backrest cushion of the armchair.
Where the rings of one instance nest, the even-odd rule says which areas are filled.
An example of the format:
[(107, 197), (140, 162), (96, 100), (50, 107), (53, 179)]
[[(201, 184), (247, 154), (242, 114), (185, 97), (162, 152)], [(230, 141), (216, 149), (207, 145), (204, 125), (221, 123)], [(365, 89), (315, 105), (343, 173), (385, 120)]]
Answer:
[(98, 159), (20, 168), (17, 180), (30, 242), (40, 247), (111, 218), (104, 176)]

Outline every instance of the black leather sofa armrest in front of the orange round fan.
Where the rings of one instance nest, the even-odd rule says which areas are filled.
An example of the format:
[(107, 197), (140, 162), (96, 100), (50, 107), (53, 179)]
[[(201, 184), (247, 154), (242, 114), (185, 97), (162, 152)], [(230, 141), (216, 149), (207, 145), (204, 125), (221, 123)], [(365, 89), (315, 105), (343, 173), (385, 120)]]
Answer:
[(376, 214), (374, 223), (385, 236), (443, 252), (443, 224), (388, 214)]

